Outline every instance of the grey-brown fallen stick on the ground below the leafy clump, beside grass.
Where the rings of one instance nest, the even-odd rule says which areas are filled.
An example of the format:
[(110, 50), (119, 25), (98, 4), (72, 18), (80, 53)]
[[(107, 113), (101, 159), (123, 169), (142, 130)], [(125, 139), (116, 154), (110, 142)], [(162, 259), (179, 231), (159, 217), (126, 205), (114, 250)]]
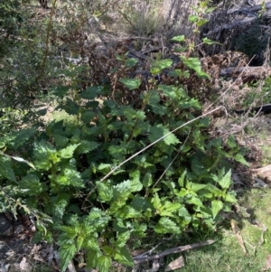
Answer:
[(158, 258), (163, 258), (164, 256), (167, 256), (169, 254), (173, 254), (173, 253), (179, 253), (179, 252), (182, 252), (182, 251), (186, 251), (186, 250), (189, 250), (189, 249), (197, 249), (197, 248), (201, 248), (203, 246), (208, 246), (208, 245), (211, 245), (215, 242), (215, 240), (213, 239), (209, 239), (207, 241), (204, 241), (204, 242), (200, 242), (200, 243), (195, 243), (195, 244), (192, 244), (192, 245), (186, 245), (186, 246), (181, 246), (181, 247), (177, 247), (177, 248), (173, 248), (173, 249), (166, 249), (162, 252), (159, 252), (153, 256), (138, 256), (138, 257), (134, 257), (134, 263), (135, 265), (136, 264), (140, 264), (140, 263), (145, 263), (146, 261), (150, 261), (150, 260), (153, 260), (153, 259), (158, 259)]

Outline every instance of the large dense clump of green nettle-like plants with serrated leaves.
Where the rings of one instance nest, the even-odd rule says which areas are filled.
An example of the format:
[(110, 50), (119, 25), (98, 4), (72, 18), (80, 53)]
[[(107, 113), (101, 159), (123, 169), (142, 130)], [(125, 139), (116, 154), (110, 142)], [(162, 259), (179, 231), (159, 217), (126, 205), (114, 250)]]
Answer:
[[(196, 30), (205, 22), (199, 16), (191, 21)], [(182, 43), (184, 36), (173, 41)], [(48, 68), (42, 49), (33, 56), (29, 81), (21, 80), (17, 69), (13, 88), (28, 86), (22, 89), (37, 96)], [(220, 211), (231, 211), (236, 198), (230, 163), (246, 164), (243, 150), (233, 136), (226, 143), (210, 137), (210, 118), (201, 116), (201, 101), (182, 84), (209, 76), (189, 53), (180, 61), (182, 69), (175, 69), (172, 60), (157, 58), (147, 78), (134, 78), (129, 75), (137, 61), (116, 55), (108, 75), (116, 84), (100, 79), (87, 82), (89, 87), (82, 87), (78, 76), (89, 66), (70, 64), (59, 68), (70, 85), (49, 89), (57, 107), (47, 122), (36, 119), (23, 127), (27, 112), (4, 108), (0, 211), (33, 215), (34, 240), (57, 242), (61, 271), (80, 249), (87, 266), (101, 272), (109, 271), (113, 260), (133, 266), (128, 250), (133, 239), (139, 246), (150, 231), (162, 236), (188, 227), (216, 230)], [(155, 76), (164, 70), (170, 70), (167, 80), (159, 82)], [(13, 126), (8, 117), (14, 117)]]

